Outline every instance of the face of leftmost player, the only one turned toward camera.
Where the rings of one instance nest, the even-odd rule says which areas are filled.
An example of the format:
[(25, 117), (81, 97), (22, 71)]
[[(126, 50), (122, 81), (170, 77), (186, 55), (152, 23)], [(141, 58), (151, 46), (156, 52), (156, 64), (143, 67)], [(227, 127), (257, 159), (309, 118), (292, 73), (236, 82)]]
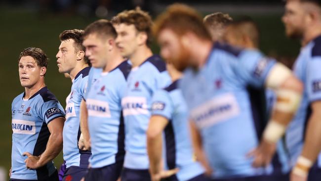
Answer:
[(18, 66), (20, 83), (24, 88), (32, 88), (36, 85), (46, 70), (45, 67), (40, 68), (31, 56), (21, 57)]

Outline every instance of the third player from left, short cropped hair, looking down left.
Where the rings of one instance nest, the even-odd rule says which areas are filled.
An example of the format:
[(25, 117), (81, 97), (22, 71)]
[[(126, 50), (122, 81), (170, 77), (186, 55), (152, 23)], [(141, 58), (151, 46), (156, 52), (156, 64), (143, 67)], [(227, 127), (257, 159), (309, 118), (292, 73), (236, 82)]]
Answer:
[(121, 98), (131, 66), (121, 56), (108, 20), (95, 21), (84, 31), (83, 45), (93, 67), (85, 95), (92, 156), (84, 181), (117, 181), (125, 154)]

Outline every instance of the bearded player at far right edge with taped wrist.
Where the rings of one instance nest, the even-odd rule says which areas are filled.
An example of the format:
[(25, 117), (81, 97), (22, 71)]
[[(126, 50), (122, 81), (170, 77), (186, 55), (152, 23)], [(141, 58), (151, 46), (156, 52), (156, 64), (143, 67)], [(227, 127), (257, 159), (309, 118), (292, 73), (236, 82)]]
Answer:
[(302, 44), (293, 69), (304, 84), (304, 93), (285, 135), (294, 166), (291, 181), (320, 181), (321, 1), (286, 0), (282, 20), (286, 36)]

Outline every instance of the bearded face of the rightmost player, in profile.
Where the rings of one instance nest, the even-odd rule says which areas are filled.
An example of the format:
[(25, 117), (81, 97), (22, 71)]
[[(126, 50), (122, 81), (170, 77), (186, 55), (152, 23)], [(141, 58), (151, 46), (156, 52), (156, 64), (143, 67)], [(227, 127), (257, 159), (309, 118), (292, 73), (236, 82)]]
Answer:
[(285, 25), (285, 34), (289, 38), (303, 37), (305, 11), (298, 0), (289, 0), (285, 5), (282, 21)]

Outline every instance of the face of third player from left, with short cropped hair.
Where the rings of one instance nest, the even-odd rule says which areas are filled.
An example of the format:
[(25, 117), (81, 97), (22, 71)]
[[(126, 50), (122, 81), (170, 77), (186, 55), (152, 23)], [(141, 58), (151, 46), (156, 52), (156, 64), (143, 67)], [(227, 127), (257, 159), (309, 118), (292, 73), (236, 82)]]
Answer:
[(85, 55), (88, 57), (92, 67), (103, 68), (106, 66), (109, 51), (107, 38), (89, 34), (83, 40), (82, 45), (86, 48)]

